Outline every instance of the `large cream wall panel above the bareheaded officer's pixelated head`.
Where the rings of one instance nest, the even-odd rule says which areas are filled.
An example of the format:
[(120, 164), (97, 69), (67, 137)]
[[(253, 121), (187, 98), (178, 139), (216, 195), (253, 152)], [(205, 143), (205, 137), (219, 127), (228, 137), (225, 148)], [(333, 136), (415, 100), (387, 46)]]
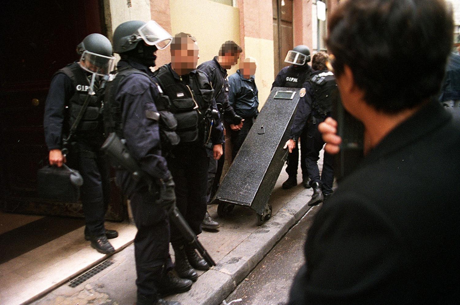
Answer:
[[(226, 40), (240, 43), (240, 17), (236, 7), (209, 0), (170, 0), (171, 34), (195, 36), (200, 47), (198, 64), (219, 54)], [(237, 67), (229, 70), (229, 75)]]

